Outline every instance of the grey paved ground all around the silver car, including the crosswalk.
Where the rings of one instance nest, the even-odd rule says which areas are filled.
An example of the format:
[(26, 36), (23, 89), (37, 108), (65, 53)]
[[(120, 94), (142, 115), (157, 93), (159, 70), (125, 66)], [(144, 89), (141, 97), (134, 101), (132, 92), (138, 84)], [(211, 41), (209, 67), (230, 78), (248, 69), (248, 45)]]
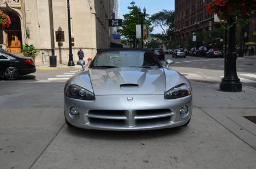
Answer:
[[(171, 55), (166, 55), (166, 59)], [(256, 59), (237, 59), (242, 92), (220, 92), (223, 58), (171, 58), (192, 83), (188, 126), (141, 132), (68, 127), (65, 81), (79, 69), (0, 81), (0, 168), (254, 168)]]

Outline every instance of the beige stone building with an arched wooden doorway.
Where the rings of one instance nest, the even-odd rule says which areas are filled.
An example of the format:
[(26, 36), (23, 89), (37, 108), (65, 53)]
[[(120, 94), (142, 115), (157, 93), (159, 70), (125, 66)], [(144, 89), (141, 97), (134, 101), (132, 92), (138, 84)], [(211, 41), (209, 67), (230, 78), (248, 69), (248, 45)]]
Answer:
[(9, 14), (11, 26), (1, 28), (0, 44), (13, 53), (20, 53), (24, 44), (34, 45), (39, 49), (36, 64), (49, 64), (49, 56), (68, 63), (68, 2), (73, 61), (79, 48), (85, 59), (110, 48), (115, 29), (109, 19), (113, 12), (119, 15), (119, 0), (1, 0), (0, 10)]

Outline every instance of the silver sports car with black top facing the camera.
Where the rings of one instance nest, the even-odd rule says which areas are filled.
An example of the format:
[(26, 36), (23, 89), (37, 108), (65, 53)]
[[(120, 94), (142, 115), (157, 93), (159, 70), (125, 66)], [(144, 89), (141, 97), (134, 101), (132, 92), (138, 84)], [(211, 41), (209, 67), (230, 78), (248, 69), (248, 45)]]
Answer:
[(106, 49), (64, 88), (68, 125), (98, 130), (151, 130), (187, 125), (192, 114), (188, 79), (161, 64), (151, 50)]

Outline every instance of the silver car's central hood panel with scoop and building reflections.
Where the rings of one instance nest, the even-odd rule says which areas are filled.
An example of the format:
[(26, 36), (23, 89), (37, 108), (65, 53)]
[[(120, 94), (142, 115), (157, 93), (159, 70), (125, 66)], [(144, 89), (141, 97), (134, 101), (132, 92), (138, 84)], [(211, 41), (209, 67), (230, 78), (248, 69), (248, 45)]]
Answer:
[(162, 68), (89, 69), (95, 95), (163, 94), (166, 76)]

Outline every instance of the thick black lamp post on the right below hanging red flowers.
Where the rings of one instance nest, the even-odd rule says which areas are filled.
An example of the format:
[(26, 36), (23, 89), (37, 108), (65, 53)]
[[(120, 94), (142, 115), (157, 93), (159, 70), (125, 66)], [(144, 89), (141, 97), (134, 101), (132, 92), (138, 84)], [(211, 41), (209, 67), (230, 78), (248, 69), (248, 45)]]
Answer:
[[(229, 25), (233, 23), (232, 17), (228, 20)], [(237, 76), (237, 53), (236, 53), (236, 25), (229, 29), (228, 53), (225, 58), (224, 78), (220, 82), (220, 91), (238, 92), (242, 91), (242, 83)]]

